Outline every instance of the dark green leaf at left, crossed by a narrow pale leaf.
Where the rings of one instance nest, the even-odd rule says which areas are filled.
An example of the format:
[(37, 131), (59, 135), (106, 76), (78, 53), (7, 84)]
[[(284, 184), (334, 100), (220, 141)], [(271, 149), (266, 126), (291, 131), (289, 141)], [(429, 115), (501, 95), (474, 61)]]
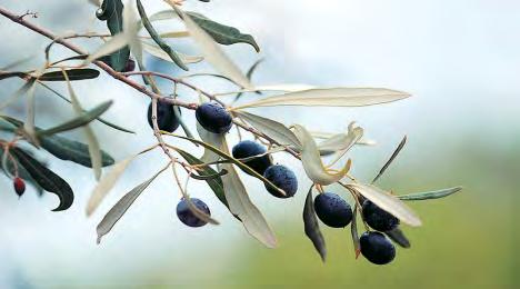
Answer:
[[(82, 142), (70, 140), (59, 136), (40, 137), (41, 147), (61, 160), (70, 160), (87, 168), (92, 168), (89, 147)], [(113, 158), (106, 151), (101, 151), (101, 165), (112, 166)]]

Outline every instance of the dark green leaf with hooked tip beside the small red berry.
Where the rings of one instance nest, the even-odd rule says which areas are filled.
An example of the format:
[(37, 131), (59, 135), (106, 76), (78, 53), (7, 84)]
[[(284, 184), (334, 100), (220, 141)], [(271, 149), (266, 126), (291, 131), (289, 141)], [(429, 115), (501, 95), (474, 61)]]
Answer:
[(60, 205), (52, 211), (67, 210), (72, 206), (74, 193), (69, 183), (60, 176), (46, 168), (38, 160), (32, 158), (29, 153), (20, 148), (12, 148), (12, 155), (17, 158), (20, 166), (22, 166), (32, 179), (41, 186), (46, 191), (52, 192), (60, 199)]

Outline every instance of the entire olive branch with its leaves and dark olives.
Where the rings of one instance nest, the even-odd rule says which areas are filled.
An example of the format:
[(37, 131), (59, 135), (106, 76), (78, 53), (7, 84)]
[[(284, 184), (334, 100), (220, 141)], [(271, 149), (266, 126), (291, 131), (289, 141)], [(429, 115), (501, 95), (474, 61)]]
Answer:
[[(96, 4), (97, 1), (91, 2)], [(3, 17), (51, 40), (44, 50), (46, 64), (43, 67), (31, 71), (13, 70), (26, 61), (22, 60), (0, 69), (0, 80), (20, 78), (26, 81), (19, 90), (0, 104), (0, 109), (3, 110), (20, 97), (24, 96), (27, 100), (24, 121), (4, 116), (3, 112), (0, 114), (0, 129), (12, 134), (11, 140), (0, 140), (2, 170), (6, 176), (13, 179), (14, 190), (19, 196), (26, 189), (23, 182), (26, 180), (39, 191), (49, 191), (59, 197), (60, 205), (54, 210), (67, 210), (73, 202), (73, 192), (67, 181), (34, 158), (31, 151), (22, 148), (21, 142), (28, 142), (34, 148), (42, 148), (59, 159), (92, 168), (99, 182), (87, 205), (88, 216), (98, 208), (132, 160), (160, 148), (167, 158), (166, 166), (130, 190), (106, 213), (97, 228), (98, 242), (101, 237), (111, 231), (146, 188), (160, 173), (171, 168), (174, 182), (182, 195), (178, 206), (178, 216), (181, 221), (192, 227), (220, 223), (211, 217), (211, 212), (203, 201), (191, 199), (188, 193), (190, 179), (202, 180), (208, 183), (208, 187), (229, 211), (243, 223), (252, 237), (267, 247), (274, 248), (277, 247), (274, 232), (260, 210), (250, 200), (247, 188), (236, 168), (238, 167), (259, 179), (271, 195), (279, 198), (292, 197), (298, 190), (297, 177), (289, 168), (272, 165), (273, 155), (286, 152), (301, 161), (307, 178), (312, 182), (303, 206), (303, 223), (306, 235), (313, 242), (322, 260), (326, 260), (327, 249), (318, 218), (327, 226), (336, 228), (343, 228), (352, 223), (351, 235), (357, 256), (361, 252), (371, 262), (387, 263), (393, 259), (394, 248), (380, 232), (407, 248), (410, 243), (400, 230), (400, 222), (414, 227), (421, 226), (419, 217), (403, 201), (438, 199), (461, 189), (457, 187), (396, 196), (393, 192), (373, 186), (403, 149), (406, 138), (383, 165), (373, 181), (364, 183), (350, 175), (353, 161), (346, 157), (352, 147), (371, 143), (363, 139), (364, 130), (361, 127), (352, 122), (346, 132), (323, 136), (323, 133), (311, 132), (301, 124), (286, 127), (281, 122), (248, 111), (250, 108), (279, 106), (364, 107), (402, 100), (410, 97), (408, 93), (383, 88), (253, 84), (251, 76), (260, 61), (254, 63), (244, 74), (220, 48), (220, 46), (246, 43), (258, 52), (260, 47), (252, 36), (212, 21), (200, 13), (184, 11), (180, 8), (182, 1), (166, 2), (171, 6), (171, 9), (148, 16), (140, 0), (130, 0), (126, 4), (121, 0), (104, 0), (96, 14), (101, 21), (107, 21), (110, 33), (74, 32), (67, 36), (58, 36), (24, 19), (27, 16), (36, 16), (36, 13), (16, 14), (0, 7), (0, 14)], [(186, 26), (186, 31), (160, 33), (156, 30), (153, 22), (161, 20), (181, 21)], [(139, 34), (142, 28), (148, 32), (147, 36)], [(89, 52), (72, 42), (79, 38), (100, 39), (106, 42), (99, 46), (94, 52)], [(177, 38), (191, 38), (202, 56), (182, 54), (166, 41)], [(54, 44), (68, 48), (76, 56), (51, 61), (51, 48)], [(189, 70), (191, 63), (207, 61), (219, 73), (191, 73), (173, 77), (149, 71), (146, 69), (143, 52), (183, 70)], [(130, 54), (133, 56), (133, 59), (130, 58)], [(134, 71), (136, 63), (139, 68), (138, 71)], [(92, 67), (103, 70), (116, 80), (133, 88), (139, 94), (150, 98), (149, 122), (157, 140), (156, 144), (118, 162), (100, 149), (96, 134), (89, 126), (90, 122), (98, 120), (114, 130), (124, 133), (133, 132), (101, 118), (112, 104), (111, 101), (89, 110), (82, 108), (72, 82), (96, 79), (100, 71)], [(238, 89), (219, 93), (208, 92), (189, 81), (196, 77), (224, 79), (234, 83)], [(141, 81), (134, 78), (141, 78)], [(169, 91), (170, 93), (162, 92), (156, 83), (157, 79), (171, 82), (172, 91)], [(66, 82), (69, 97), (49, 86), (50, 81)], [(37, 127), (34, 107), (37, 86), (41, 86), (70, 102), (77, 114), (76, 118), (52, 128)], [(201, 101), (189, 102), (180, 99), (177, 93), (178, 87), (193, 91)], [(272, 92), (282, 93), (272, 94)], [(243, 99), (250, 93), (261, 93), (262, 96), (258, 100), (244, 102)], [(230, 96), (234, 96), (234, 100), (229, 100)], [(199, 138), (193, 137), (193, 133), (186, 126), (186, 116), (181, 113), (181, 109), (196, 111)], [(184, 136), (173, 133), (178, 127), (182, 128)], [(236, 128), (240, 140), (244, 136), (242, 133), (250, 133), (259, 142), (241, 141), (233, 147), (231, 152), (226, 133), (232, 127)], [(59, 136), (61, 132), (73, 129), (83, 131), (84, 138), (88, 140), (87, 144)], [(322, 140), (317, 142), (318, 139)], [(201, 158), (194, 157), (178, 148), (177, 144), (172, 144), (173, 140), (188, 141), (202, 147), (204, 155)], [(323, 160), (328, 158), (330, 158), (330, 162), (323, 163)], [(342, 166), (338, 168), (338, 163), (342, 163)], [(108, 166), (112, 166), (111, 170), (102, 175), (102, 168)], [(178, 168), (187, 173), (184, 180), (178, 172)], [(339, 185), (352, 196), (353, 211), (343, 198), (328, 191), (328, 187), (331, 185)], [(319, 192), (316, 198), (313, 198), (314, 188)], [(361, 237), (357, 231), (358, 212), (367, 230)], [(370, 228), (376, 231), (370, 231)], [(386, 255), (374, 255), (373, 252), (378, 251), (378, 248), (382, 248)]]

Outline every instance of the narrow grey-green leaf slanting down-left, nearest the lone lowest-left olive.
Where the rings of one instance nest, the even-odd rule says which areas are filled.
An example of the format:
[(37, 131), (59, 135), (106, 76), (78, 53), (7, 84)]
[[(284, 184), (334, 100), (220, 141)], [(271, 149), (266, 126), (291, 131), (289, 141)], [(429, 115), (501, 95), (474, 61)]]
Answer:
[(98, 225), (96, 228), (96, 231), (98, 233), (97, 242), (101, 242), (101, 238), (109, 233), (110, 230), (112, 230), (113, 226), (121, 219), (121, 217), (127, 212), (127, 210), (132, 206), (132, 203), (137, 200), (137, 198), (144, 191), (148, 186), (161, 173), (163, 172), (170, 163), (168, 163), (167, 167), (158, 171), (156, 175), (153, 175), (150, 179), (146, 180), (144, 182), (140, 183), (132, 190), (130, 190), (127, 195), (124, 195), (113, 207), (110, 209), (107, 215), (103, 217), (101, 222)]

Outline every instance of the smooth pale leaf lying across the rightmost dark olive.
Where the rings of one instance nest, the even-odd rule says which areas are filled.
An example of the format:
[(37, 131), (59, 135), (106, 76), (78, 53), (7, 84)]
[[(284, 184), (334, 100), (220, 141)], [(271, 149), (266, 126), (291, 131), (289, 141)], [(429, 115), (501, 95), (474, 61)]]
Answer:
[(422, 225), (419, 217), (401, 200), (378, 187), (362, 183), (349, 183), (346, 187), (362, 195), (382, 210), (388, 211), (402, 222), (412, 227)]

